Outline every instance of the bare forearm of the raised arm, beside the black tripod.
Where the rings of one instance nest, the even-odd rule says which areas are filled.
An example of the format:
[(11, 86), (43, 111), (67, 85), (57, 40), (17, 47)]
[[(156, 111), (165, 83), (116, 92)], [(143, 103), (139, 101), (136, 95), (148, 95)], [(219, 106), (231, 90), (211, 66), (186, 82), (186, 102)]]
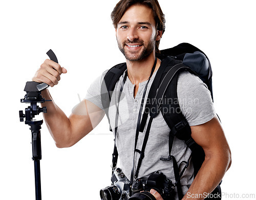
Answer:
[[(42, 91), (42, 97), (46, 100), (52, 100), (48, 90)], [(42, 106), (47, 106), (47, 113), (44, 114), (44, 119), (56, 146), (69, 146), (69, 140), (72, 134), (69, 118), (53, 100), (46, 101)]]

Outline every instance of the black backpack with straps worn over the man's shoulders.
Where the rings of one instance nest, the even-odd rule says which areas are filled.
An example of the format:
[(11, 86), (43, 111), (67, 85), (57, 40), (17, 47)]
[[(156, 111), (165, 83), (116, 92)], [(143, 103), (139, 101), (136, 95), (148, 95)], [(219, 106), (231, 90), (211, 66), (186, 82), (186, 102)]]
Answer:
[[(142, 145), (141, 155), (144, 153), (147, 138), (150, 132), (150, 127), (152, 120), (158, 115), (159, 111), (163, 115), (163, 118), (170, 128), (169, 134), (169, 155), (168, 158), (161, 159), (170, 161), (173, 160), (174, 164), (174, 174), (176, 179), (177, 191), (179, 199), (183, 197), (180, 185), (180, 177), (182, 176), (184, 170), (188, 166), (189, 162), (185, 162), (186, 166), (183, 168), (182, 172), (179, 173), (179, 166), (176, 159), (171, 155), (174, 137), (180, 140), (184, 140), (186, 145), (191, 149), (191, 162), (194, 166), (194, 177), (197, 175), (202, 163), (204, 162), (204, 150), (199, 146), (193, 138), (191, 138), (191, 129), (188, 125), (185, 117), (182, 115), (179, 103), (174, 101), (178, 99), (177, 96), (177, 80), (178, 75), (182, 71), (188, 71), (197, 75), (208, 87), (212, 95), (212, 71), (210, 61), (207, 56), (198, 48), (190, 45), (189, 43), (181, 43), (176, 47), (162, 50), (161, 54), (156, 55), (157, 58), (161, 59), (160, 68), (154, 78), (150, 92), (148, 93), (147, 102), (145, 105), (144, 113), (142, 115), (139, 131), (143, 132), (147, 118), (150, 117), (148, 121), (145, 140)], [(108, 93), (101, 93), (102, 105), (105, 110), (106, 116), (110, 122), (109, 118), (109, 105), (111, 101), (112, 92), (114, 91), (115, 85), (119, 80), (120, 76), (126, 70), (126, 63), (121, 63), (113, 66), (106, 75), (104, 76), (105, 87)], [(154, 99), (157, 101), (154, 101)], [(159, 101), (161, 99), (162, 101)], [(172, 111), (170, 110), (172, 109)], [(150, 110), (146, 112), (145, 110)], [(168, 110), (166, 112), (166, 110)], [(175, 112), (174, 112), (175, 111)], [(111, 127), (110, 130), (112, 131)], [(116, 145), (113, 152), (112, 167), (116, 167), (118, 158), (118, 152)], [(140, 157), (138, 162), (138, 169), (141, 165), (143, 156)], [(138, 171), (137, 171), (138, 172)], [(212, 194), (221, 194), (220, 186), (212, 192)], [(218, 195), (211, 195), (218, 196)], [(221, 199), (221, 198), (206, 198), (206, 199)]]

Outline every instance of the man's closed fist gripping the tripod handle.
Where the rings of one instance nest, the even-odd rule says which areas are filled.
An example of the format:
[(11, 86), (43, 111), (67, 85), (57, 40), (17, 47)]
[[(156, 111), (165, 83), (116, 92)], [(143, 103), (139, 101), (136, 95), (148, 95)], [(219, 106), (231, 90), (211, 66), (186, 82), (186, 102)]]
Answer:
[(67, 73), (67, 70), (62, 68), (57, 62), (46, 59), (36, 71), (32, 81), (44, 82), (53, 87), (58, 84), (62, 73)]

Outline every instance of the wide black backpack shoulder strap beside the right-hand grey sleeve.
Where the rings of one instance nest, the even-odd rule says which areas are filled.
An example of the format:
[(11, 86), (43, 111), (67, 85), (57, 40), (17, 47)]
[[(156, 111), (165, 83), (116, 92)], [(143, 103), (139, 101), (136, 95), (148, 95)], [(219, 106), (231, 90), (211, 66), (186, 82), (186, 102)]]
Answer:
[[(162, 99), (162, 104), (158, 105), (162, 116), (170, 128), (170, 137), (177, 137), (183, 140), (192, 151), (192, 162), (194, 166), (194, 176), (198, 173), (204, 161), (204, 151), (191, 137), (191, 129), (183, 116), (177, 95), (178, 75), (182, 71), (188, 71), (197, 75), (184, 64), (174, 66), (164, 77), (159, 87), (157, 98)], [(172, 142), (169, 142), (169, 156), (172, 151)]]

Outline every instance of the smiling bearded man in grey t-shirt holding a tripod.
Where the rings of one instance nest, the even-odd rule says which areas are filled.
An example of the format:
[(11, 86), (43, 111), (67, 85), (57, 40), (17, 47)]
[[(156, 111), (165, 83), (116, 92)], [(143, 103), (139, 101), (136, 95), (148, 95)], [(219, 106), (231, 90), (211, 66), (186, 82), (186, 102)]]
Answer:
[[(125, 100), (119, 104), (119, 121), (116, 144), (119, 152), (120, 165), (127, 177), (130, 177), (133, 167), (136, 168), (139, 154), (135, 154), (134, 137), (136, 120), (143, 91), (146, 96), (152, 81), (160, 67), (161, 60), (156, 59), (159, 41), (164, 32), (164, 15), (157, 0), (121, 0), (112, 12), (112, 20), (116, 29), (116, 38), (120, 51), (126, 58), (127, 80), (122, 93)], [(154, 73), (151, 76), (156, 59)], [(58, 63), (46, 60), (33, 77), (33, 81), (45, 82), (54, 86), (60, 80), (60, 75), (67, 73)], [(89, 88), (87, 97), (78, 104), (68, 118), (52, 101), (46, 102), (48, 113), (44, 114), (56, 146), (70, 147), (86, 136), (104, 116), (100, 99), (100, 88), (103, 77), (97, 79)], [(121, 76), (116, 84), (116, 91), (120, 91), (123, 82)], [(150, 80), (148, 80), (150, 79)], [(148, 85), (146, 84), (148, 82)], [(147, 88), (145, 88), (147, 85)], [(182, 113), (191, 128), (191, 136), (197, 144), (203, 147), (205, 161), (195, 179), (193, 166), (189, 165), (181, 179), (183, 199), (203, 199), (202, 194), (210, 193), (221, 182), (225, 172), (231, 164), (231, 153), (220, 122), (216, 117), (209, 91), (199, 78), (189, 73), (182, 73), (178, 79), (177, 93), (180, 99), (198, 97), (198, 105), (180, 102)], [(48, 90), (42, 91), (46, 99), (52, 99)], [(118, 93), (117, 95), (118, 96)], [(116, 96), (112, 99), (116, 99)], [(111, 103), (113, 104), (113, 103)], [(115, 127), (116, 107), (109, 109), (110, 124)], [(118, 121), (118, 122), (119, 122)], [(159, 131), (160, 130), (160, 131)], [(139, 171), (139, 177), (148, 177), (154, 171), (162, 171), (169, 179), (174, 179), (170, 163), (159, 161), (168, 151), (169, 128), (158, 115), (153, 120), (148, 139), (145, 157)], [(142, 134), (143, 135), (143, 134)], [(137, 148), (141, 148), (143, 136), (138, 138)], [(175, 140), (173, 154), (177, 155), (178, 164), (188, 160), (191, 151), (184, 142)], [(161, 195), (155, 190), (150, 191), (157, 200)], [(201, 194), (201, 195), (200, 195)]]

